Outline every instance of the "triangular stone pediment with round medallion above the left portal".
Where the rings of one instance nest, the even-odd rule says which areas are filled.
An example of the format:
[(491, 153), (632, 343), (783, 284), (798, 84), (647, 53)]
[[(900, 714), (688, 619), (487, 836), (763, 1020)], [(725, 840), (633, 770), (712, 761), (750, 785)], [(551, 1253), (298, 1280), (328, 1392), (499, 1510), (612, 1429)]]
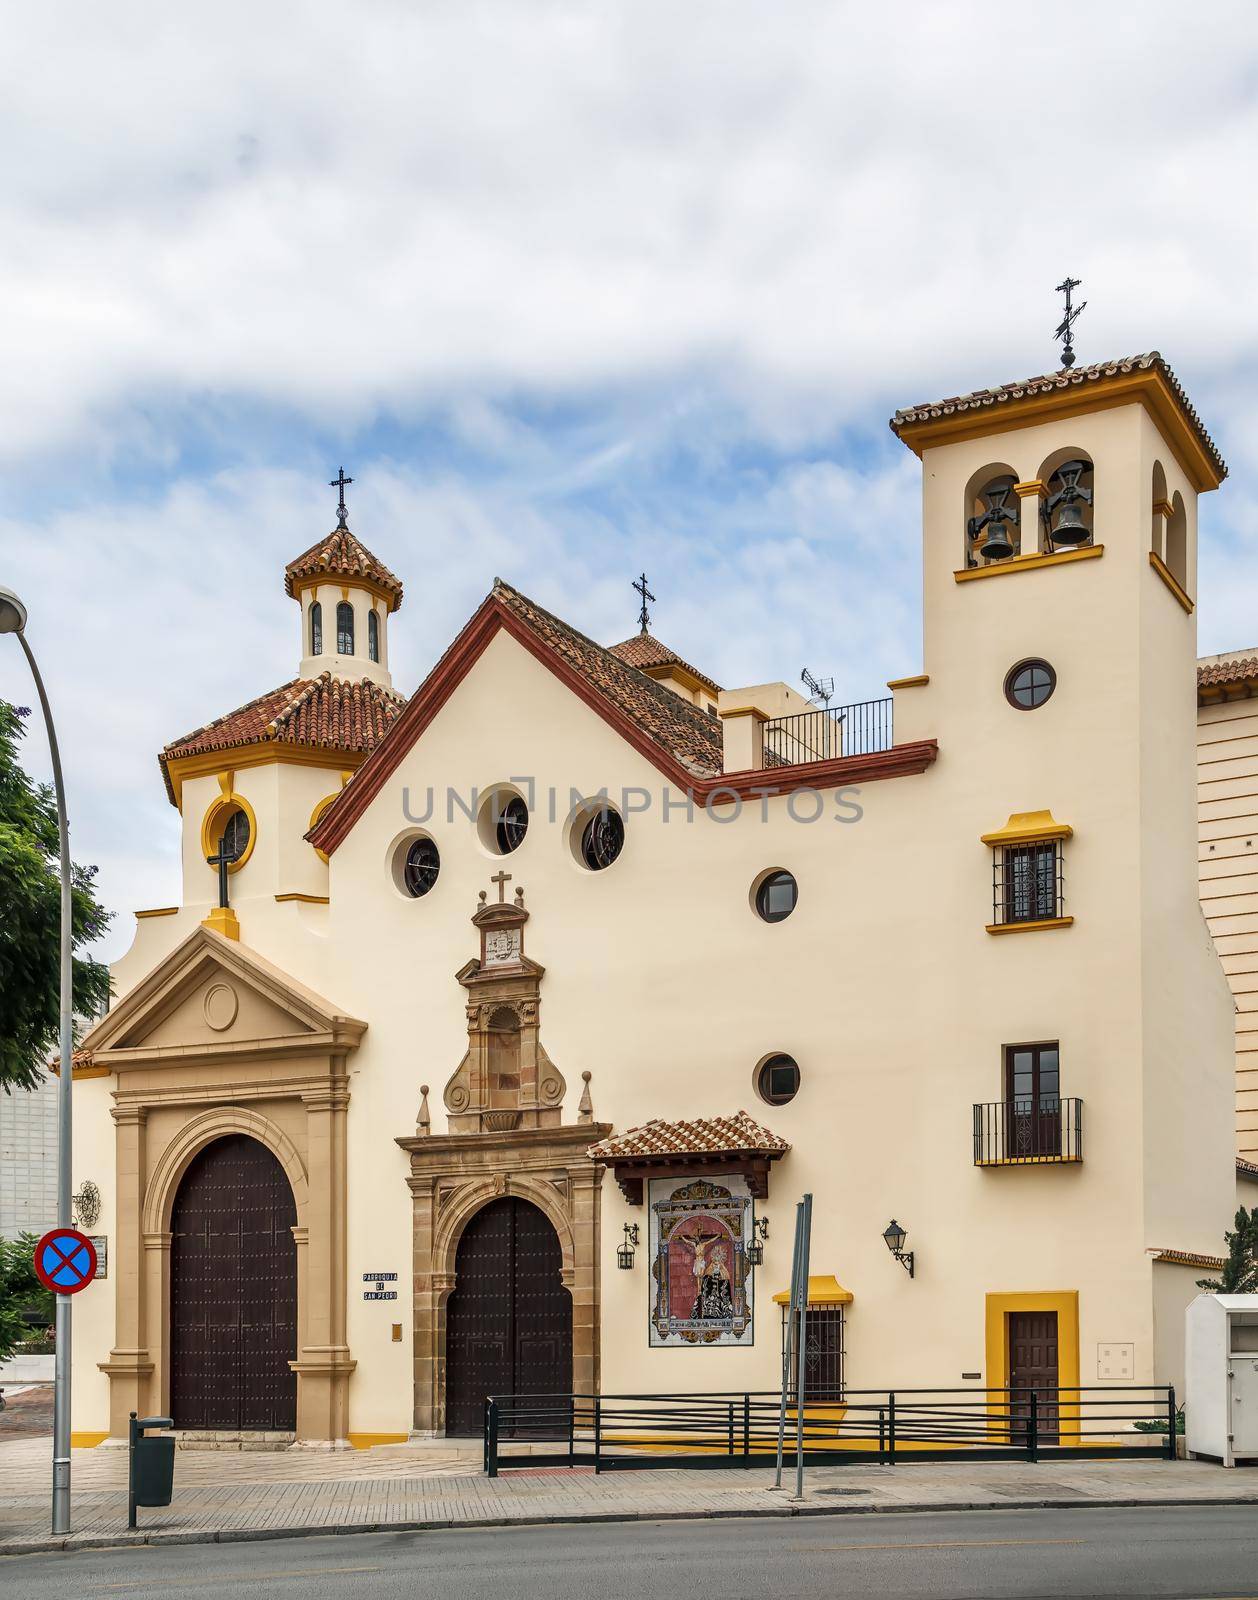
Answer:
[(91, 1029), (91, 1066), (125, 1072), (166, 1062), (343, 1053), (367, 1024), (200, 926)]

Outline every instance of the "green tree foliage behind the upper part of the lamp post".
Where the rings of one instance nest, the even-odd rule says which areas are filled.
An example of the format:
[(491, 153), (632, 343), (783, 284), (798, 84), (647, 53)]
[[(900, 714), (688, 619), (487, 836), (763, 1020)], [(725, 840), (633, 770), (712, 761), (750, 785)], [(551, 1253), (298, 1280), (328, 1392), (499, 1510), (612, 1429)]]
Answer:
[[(18, 760), (27, 707), (0, 701), (0, 1086), (35, 1088), (56, 1053), (61, 1006), (61, 866), (56, 798)], [(96, 939), (109, 915), (96, 902), (96, 867), (72, 869), (74, 947)], [(96, 1016), (109, 968), (74, 962), (74, 1008)]]

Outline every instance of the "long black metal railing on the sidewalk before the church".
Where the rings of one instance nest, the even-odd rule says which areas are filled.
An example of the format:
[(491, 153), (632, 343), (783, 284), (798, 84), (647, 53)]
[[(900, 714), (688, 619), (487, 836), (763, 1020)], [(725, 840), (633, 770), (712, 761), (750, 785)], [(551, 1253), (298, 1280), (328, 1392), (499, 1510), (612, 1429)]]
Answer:
[[(485, 1402), (485, 1472), (511, 1467), (763, 1467), (776, 1456), (781, 1397), (495, 1395)], [(803, 1413), (805, 1461), (1175, 1459), (1175, 1389), (848, 1389)], [(1165, 1430), (1164, 1432), (1159, 1432)], [(514, 1453), (512, 1438), (528, 1438)], [(547, 1450), (546, 1442), (554, 1448)], [(519, 1446), (517, 1446), (519, 1448)], [(784, 1459), (795, 1459), (787, 1411)]]

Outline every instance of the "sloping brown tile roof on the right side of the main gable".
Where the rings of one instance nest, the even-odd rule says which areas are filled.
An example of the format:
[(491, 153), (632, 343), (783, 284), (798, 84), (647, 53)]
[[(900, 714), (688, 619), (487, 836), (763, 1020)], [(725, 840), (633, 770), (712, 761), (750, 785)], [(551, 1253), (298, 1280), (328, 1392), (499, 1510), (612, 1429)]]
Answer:
[(555, 654), (696, 778), (715, 778), (722, 771), (722, 731), (714, 717), (698, 706), (690, 706), (680, 694), (648, 678), (637, 667), (626, 666), (610, 650), (595, 645), (592, 638), (578, 634), (557, 616), (543, 611), (501, 578), (495, 578), (493, 594)]

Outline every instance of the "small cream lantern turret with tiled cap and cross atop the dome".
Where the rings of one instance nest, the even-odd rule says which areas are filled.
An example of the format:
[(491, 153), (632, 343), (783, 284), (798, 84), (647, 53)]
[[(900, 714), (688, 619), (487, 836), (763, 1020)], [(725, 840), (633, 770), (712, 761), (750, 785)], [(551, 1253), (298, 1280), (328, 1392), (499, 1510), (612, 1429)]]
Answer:
[(298, 675), (392, 688), (389, 618), (402, 605), (402, 582), (349, 530), (346, 477), (341, 467), (330, 488), (339, 491), (336, 526), (285, 568), (285, 589), (301, 606)]

